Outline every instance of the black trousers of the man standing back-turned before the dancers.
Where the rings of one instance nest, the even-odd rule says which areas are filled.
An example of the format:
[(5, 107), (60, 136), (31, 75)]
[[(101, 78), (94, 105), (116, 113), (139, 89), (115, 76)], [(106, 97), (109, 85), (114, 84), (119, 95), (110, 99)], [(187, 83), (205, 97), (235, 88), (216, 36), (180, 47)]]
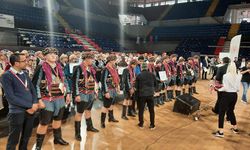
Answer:
[(144, 108), (145, 108), (146, 104), (148, 106), (148, 111), (149, 111), (149, 115), (150, 115), (150, 125), (155, 125), (155, 111), (154, 111), (153, 96), (139, 97), (137, 104), (139, 107), (140, 125), (143, 125), (143, 123), (144, 123), (143, 114), (144, 114)]

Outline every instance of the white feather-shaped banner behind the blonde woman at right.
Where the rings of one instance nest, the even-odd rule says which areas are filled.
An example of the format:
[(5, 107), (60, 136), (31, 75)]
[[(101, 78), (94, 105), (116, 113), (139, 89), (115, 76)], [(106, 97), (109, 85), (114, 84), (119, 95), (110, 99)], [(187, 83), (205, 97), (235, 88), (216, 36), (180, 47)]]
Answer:
[(231, 40), (229, 50), (231, 61), (235, 60), (235, 57), (238, 58), (239, 56), (241, 36), (242, 35), (237, 35)]

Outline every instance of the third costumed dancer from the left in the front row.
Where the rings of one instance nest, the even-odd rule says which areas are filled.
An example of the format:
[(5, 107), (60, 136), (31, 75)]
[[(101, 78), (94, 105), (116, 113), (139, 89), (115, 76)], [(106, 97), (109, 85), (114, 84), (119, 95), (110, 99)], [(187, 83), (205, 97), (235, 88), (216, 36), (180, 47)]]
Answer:
[(103, 98), (103, 107), (101, 113), (101, 128), (105, 128), (106, 113), (108, 112), (109, 122), (119, 122), (114, 117), (113, 106), (115, 104), (115, 97), (120, 87), (120, 78), (116, 70), (117, 57), (110, 54), (107, 57), (107, 65), (102, 71), (101, 75), (101, 93)]

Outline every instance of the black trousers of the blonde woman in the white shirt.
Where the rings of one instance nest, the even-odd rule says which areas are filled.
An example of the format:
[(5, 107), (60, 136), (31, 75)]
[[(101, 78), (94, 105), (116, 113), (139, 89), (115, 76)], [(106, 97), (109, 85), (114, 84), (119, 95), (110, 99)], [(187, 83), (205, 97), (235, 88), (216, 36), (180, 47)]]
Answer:
[(237, 102), (237, 93), (220, 92), (221, 98), (218, 101), (219, 111), (219, 128), (224, 127), (224, 117), (227, 113), (227, 119), (232, 125), (236, 125), (236, 117), (234, 114), (234, 107)]

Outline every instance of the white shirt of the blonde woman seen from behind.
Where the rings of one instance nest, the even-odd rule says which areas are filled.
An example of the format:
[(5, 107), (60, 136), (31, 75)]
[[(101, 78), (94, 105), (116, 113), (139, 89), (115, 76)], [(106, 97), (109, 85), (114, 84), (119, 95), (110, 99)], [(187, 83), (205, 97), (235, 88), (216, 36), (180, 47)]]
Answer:
[(226, 73), (223, 76), (222, 84), (223, 87), (219, 91), (223, 92), (239, 92), (241, 84), (241, 74), (232, 76), (231, 74)]

